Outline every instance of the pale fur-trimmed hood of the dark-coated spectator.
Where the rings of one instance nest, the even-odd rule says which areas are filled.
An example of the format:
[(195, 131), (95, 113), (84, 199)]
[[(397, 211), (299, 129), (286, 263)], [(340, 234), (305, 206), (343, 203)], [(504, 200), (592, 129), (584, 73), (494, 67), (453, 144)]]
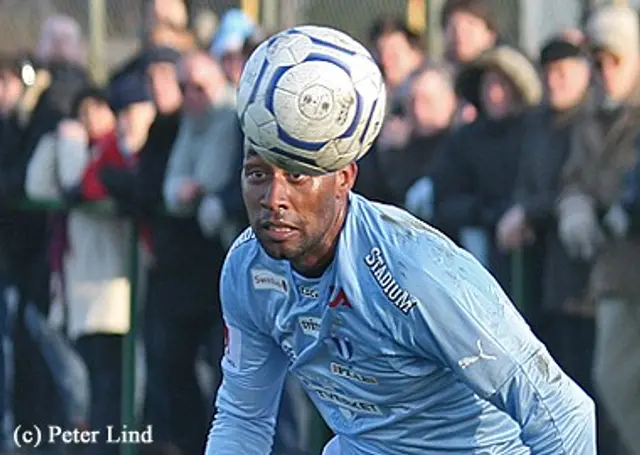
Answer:
[(505, 44), (485, 51), (463, 67), (456, 78), (456, 92), (479, 107), (480, 83), (484, 73), (490, 70), (503, 73), (528, 106), (535, 106), (542, 100), (542, 82), (533, 63), (514, 47)]

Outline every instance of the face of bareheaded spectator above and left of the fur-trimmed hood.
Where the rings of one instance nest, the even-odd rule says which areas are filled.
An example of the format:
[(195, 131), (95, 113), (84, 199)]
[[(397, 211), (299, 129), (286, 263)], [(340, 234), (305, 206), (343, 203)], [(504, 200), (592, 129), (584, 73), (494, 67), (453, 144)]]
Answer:
[(496, 34), (484, 20), (464, 11), (449, 17), (444, 32), (447, 53), (458, 63), (470, 62), (496, 42)]

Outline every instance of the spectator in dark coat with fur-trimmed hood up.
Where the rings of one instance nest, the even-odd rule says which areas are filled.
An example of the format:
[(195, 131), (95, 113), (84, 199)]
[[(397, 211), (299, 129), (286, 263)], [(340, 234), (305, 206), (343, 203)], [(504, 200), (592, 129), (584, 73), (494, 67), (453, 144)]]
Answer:
[[(450, 137), (434, 165), (434, 224), (458, 239), (488, 265), (502, 287), (510, 290), (510, 257), (495, 245), (498, 221), (511, 204), (522, 150), (522, 115), (542, 97), (533, 64), (512, 47), (495, 47), (459, 75), (456, 86), (479, 112), (478, 119)], [(488, 238), (471, 246), (467, 228)], [(474, 234), (476, 233), (473, 231)]]

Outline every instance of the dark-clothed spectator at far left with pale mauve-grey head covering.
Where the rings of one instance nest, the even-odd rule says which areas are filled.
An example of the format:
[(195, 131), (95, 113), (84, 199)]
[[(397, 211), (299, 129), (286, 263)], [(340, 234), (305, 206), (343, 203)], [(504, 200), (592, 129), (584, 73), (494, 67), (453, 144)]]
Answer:
[[(72, 114), (73, 100), (89, 84), (85, 70), (86, 51), (80, 25), (71, 17), (49, 17), (40, 32), (36, 47), (38, 84), (24, 100), (31, 114), (24, 126), (20, 143), (11, 152), (11, 181), (3, 187), (4, 197), (25, 195), (27, 166), (41, 140), (55, 134), (58, 124)], [(27, 94), (25, 94), (27, 97)], [(29, 212), (20, 216), (19, 233), (14, 238), (21, 251), (19, 261), (12, 265), (18, 280), (20, 307), (14, 332), (14, 387), (16, 424), (50, 425), (59, 422), (51, 375), (23, 325), (23, 310), (33, 303), (45, 316), (50, 306), (49, 216)], [(57, 217), (54, 217), (57, 218)]]

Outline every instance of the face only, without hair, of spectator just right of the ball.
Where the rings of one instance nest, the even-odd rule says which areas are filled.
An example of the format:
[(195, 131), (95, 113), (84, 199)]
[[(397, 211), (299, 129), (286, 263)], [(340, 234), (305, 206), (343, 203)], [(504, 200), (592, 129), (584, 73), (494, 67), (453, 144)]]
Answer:
[(376, 51), (382, 64), (385, 81), (394, 89), (422, 63), (422, 53), (411, 46), (402, 32), (382, 35), (376, 42)]

